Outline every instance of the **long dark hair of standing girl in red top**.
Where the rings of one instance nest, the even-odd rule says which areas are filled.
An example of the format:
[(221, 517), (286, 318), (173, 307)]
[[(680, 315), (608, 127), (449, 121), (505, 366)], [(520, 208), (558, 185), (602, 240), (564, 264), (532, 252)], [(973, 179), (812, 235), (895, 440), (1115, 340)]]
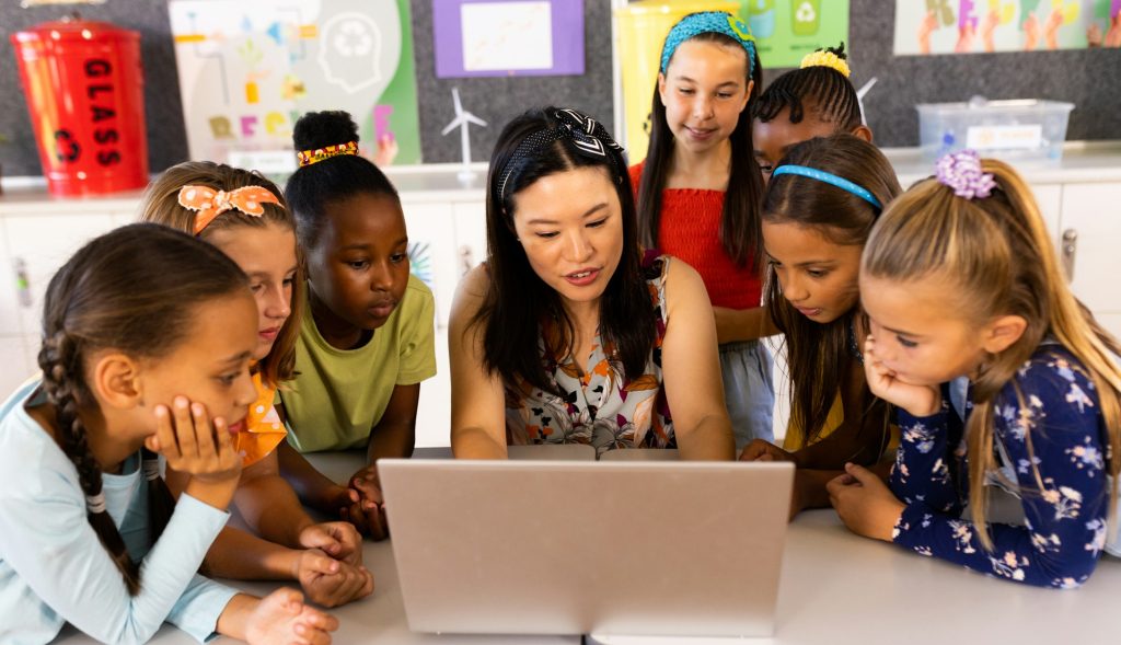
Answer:
[[(691, 38), (725, 45), (747, 52), (731, 36), (706, 31)], [(676, 55), (676, 54), (675, 54)], [(670, 58), (673, 64), (673, 58)], [(756, 163), (754, 145), (751, 142), (751, 110), (762, 86), (762, 65), (758, 54), (748, 62), (748, 81), (753, 81), (748, 104), (740, 112), (735, 129), (729, 140), (732, 144), (732, 168), (724, 193), (724, 211), (721, 213), (720, 241), (736, 265), (756, 264), (760, 257), (759, 202), (763, 194), (762, 174)], [(658, 246), (658, 227), (661, 224), (661, 191), (669, 176), (669, 164), (674, 157), (674, 133), (666, 120), (666, 105), (661, 103), (658, 87), (654, 89), (650, 105), (650, 147), (646, 154), (646, 166), (638, 185), (638, 221), (641, 241), (648, 248)]]

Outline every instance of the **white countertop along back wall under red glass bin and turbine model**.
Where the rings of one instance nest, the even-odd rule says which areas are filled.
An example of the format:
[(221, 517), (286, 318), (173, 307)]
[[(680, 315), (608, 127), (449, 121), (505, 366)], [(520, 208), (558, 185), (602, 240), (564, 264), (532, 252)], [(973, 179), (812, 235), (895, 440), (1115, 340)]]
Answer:
[[(904, 186), (933, 174), (918, 148), (884, 148)], [(1121, 140), (1068, 141), (1063, 159), (1054, 166), (1020, 166), (1029, 184), (1121, 182)], [(407, 202), (481, 201), (487, 190), (487, 164), (478, 163), (464, 174), (460, 164), (389, 167), (389, 176)], [(470, 175), (470, 176), (467, 176)], [(90, 197), (57, 197), (47, 193), (43, 177), (13, 177), (3, 183), (0, 215), (36, 212), (131, 212), (140, 191)]]

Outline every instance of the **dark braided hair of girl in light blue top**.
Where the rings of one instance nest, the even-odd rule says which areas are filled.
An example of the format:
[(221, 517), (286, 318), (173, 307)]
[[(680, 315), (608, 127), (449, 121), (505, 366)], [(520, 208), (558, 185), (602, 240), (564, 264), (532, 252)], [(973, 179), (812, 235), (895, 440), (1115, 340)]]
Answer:
[[(249, 283), (233, 260), (159, 224), (130, 224), (94, 239), (50, 279), (38, 357), (43, 390), (55, 408), (58, 443), (77, 469), (87, 497), (101, 492), (102, 477), (78, 414), (81, 408), (96, 407), (85, 380), (85, 361), (105, 348), (145, 359), (167, 356), (183, 342), (196, 306), (238, 293), (248, 297)], [(146, 451), (146, 476), (155, 459)], [(148, 504), (155, 542), (175, 506), (158, 473), (149, 477)], [(140, 569), (129, 558), (113, 519), (105, 510), (90, 513), (87, 519), (135, 596)]]

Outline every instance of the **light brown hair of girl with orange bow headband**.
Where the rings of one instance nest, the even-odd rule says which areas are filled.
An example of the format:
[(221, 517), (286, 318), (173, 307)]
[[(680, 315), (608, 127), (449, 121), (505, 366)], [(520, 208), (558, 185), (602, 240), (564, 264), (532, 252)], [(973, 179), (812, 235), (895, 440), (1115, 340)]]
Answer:
[[(172, 166), (156, 177), (145, 191), (140, 203), (140, 221), (165, 224), (187, 233), (194, 233), (197, 213), (179, 205), (179, 188), (186, 185), (197, 185), (215, 191), (234, 191), (245, 186), (260, 186), (280, 200), (279, 204), (261, 204), (265, 213), (261, 216), (248, 215), (238, 209), (230, 209), (206, 225), (198, 238), (209, 240), (215, 231), (235, 227), (263, 228), (277, 223), (296, 232), (296, 220), (285, 205), (284, 195), (267, 177), (250, 171), (242, 171), (215, 164), (213, 162), (184, 162)], [(296, 245), (296, 279), (291, 291), (291, 313), (284, 321), (280, 333), (269, 351), (261, 359), (257, 369), (262, 379), (274, 386), (289, 380), (296, 371), (296, 340), (299, 338), (299, 321), (304, 316), (304, 260), (299, 245)]]

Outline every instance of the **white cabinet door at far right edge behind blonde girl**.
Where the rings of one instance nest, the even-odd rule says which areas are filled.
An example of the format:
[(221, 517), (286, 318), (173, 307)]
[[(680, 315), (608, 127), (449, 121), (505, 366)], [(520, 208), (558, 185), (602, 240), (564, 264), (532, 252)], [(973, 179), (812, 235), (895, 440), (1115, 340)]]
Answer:
[(1094, 314), (1121, 313), (1121, 184), (1065, 185), (1060, 228), (1075, 295)]

